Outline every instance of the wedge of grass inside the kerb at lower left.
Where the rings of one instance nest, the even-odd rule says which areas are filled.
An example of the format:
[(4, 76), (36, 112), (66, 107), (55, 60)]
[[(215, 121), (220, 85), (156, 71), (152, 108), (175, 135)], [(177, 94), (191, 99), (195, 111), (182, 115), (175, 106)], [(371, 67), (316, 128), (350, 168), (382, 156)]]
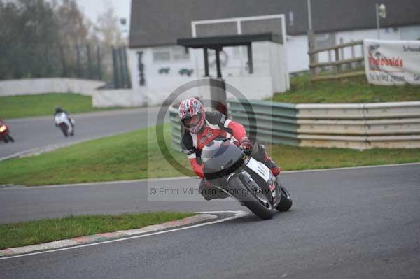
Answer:
[(139, 229), (180, 220), (195, 213), (137, 213), (69, 216), (14, 224), (0, 224), (0, 249), (48, 243), (78, 236)]

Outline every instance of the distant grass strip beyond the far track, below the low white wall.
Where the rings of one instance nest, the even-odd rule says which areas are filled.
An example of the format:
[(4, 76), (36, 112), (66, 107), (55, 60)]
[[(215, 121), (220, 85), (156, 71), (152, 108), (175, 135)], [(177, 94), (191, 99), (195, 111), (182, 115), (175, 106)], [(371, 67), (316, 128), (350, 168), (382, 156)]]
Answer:
[(112, 110), (117, 108), (93, 108), (92, 97), (80, 94), (50, 93), (0, 97), (0, 118), (20, 118), (53, 115), (57, 106), (69, 113)]

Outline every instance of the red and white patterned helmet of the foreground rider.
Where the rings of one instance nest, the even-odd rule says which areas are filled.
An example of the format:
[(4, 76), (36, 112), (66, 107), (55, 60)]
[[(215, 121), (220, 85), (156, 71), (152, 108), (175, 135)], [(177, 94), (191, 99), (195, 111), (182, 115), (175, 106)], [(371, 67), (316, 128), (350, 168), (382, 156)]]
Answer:
[(206, 110), (197, 99), (185, 99), (179, 105), (179, 119), (188, 131), (199, 134), (206, 122)]

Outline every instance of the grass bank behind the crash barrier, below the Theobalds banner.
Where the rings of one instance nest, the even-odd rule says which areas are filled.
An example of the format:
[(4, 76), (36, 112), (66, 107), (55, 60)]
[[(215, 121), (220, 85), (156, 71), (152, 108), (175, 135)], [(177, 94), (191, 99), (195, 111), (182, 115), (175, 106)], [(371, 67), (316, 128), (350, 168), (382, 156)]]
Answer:
[(364, 76), (344, 80), (309, 83), (309, 74), (290, 79), (290, 90), (274, 94), (272, 101), (282, 103), (381, 103), (419, 101), (420, 86), (370, 85)]

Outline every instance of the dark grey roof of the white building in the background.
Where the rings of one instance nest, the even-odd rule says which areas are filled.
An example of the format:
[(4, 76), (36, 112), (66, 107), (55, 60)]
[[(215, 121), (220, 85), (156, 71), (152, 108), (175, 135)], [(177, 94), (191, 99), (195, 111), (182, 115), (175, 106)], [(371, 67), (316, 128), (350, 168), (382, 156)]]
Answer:
[[(420, 24), (420, 0), (312, 0), (314, 31), (376, 28), (377, 2), (386, 5), (381, 27)], [(287, 34), (307, 32), (307, 0), (132, 0), (130, 47), (174, 45), (191, 36), (193, 20), (279, 13), (286, 15)]]

